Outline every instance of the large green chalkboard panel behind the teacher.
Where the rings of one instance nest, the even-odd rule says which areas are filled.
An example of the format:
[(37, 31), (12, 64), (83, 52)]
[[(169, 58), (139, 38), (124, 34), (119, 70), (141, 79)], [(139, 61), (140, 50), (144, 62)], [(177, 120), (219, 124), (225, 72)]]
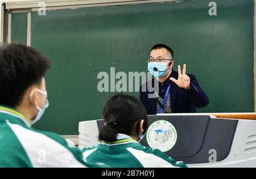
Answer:
[(98, 73), (110, 75), (110, 67), (115, 73), (147, 71), (157, 43), (170, 45), (175, 69), (187, 63), (208, 94), (210, 104), (198, 112), (252, 112), (253, 0), (216, 0), (216, 16), (208, 14), (209, 2), (32, 12), (31, 45), (52, 61), (46, 75), (50, 106), (36, 127), (77, 134), (79, 121), (101, 118), (115, 92), (97, 90)]

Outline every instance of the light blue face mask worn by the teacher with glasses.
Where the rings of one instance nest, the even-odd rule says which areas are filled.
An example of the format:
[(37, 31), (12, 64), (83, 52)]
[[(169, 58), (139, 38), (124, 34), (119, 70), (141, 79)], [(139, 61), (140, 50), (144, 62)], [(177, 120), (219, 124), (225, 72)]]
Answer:
[(150, 62), (148, 63), (147, 70), (156, 78), (162, 78), (168, 72), (166, 65), (167, 63), (164, 62)]

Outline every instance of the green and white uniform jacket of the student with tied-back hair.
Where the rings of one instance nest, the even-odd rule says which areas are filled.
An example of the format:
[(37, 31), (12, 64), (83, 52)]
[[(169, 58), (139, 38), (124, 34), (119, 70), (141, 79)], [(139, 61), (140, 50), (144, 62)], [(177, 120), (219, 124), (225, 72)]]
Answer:
[(98, 146), (84, 148), (82, 152), (86, 161), (98, 161), (114, 168), (187, 167), (183, 162), (176, 162), (160, 150), (142, 146), (125, 134), (118, 134), (116, 142), (100, 141)]

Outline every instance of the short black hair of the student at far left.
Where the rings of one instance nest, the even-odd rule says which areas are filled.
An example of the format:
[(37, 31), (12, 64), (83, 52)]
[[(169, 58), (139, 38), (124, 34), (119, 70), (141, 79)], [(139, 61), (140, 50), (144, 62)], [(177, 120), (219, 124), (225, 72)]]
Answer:
[(50, 62), (35, 49), (21, 44), (0, 46), (0, 105), (15, 107), (26, 90), (39, 84)]

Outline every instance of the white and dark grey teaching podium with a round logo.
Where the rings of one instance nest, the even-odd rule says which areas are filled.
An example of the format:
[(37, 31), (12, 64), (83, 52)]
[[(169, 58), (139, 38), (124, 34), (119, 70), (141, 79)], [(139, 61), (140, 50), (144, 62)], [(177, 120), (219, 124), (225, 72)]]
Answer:
[[(256, 167), (256, 120), (249, 114), (255, 115), (148, 116), (148, 130), (141, 144), (158, 148), (188, 167)], [(96, 146), (103, 126), (103, 120), (80, 122), (79, 147)]]

